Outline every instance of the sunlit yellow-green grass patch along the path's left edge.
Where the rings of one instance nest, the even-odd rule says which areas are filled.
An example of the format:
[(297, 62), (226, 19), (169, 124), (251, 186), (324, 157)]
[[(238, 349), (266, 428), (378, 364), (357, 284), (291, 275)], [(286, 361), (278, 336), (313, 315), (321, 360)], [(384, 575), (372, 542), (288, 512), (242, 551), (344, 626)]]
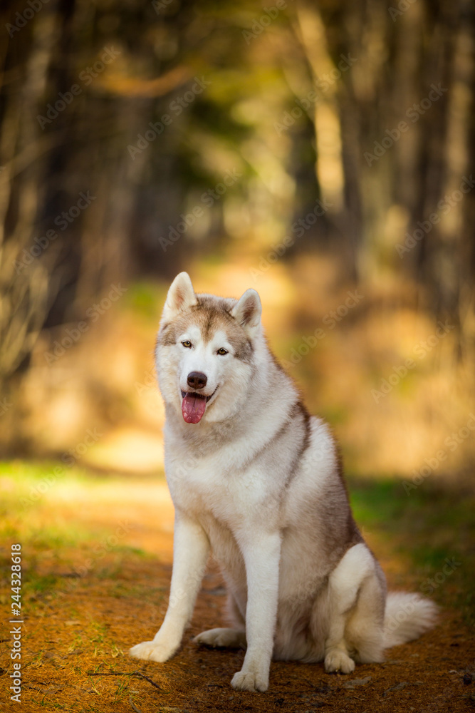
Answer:
[[(117, 498), (120, 493), (123, 479), (66, 468), (64, 476), (50, 483), (40, 496), (27, 506), (22, 504), (32, 492), (39, 492), (38, 486), (48, 482), (58, 465), (53, 461), (0, 463), (0, 538), (5, 543), (0, 558), (0, 578), (5, 585), (0, 602), (10, 604), (6, 591), (11, 566), (7, 543), (21, 543), (22, 604), (29, 612), (47, 610), (58, 597), (82, 592), (91, 583), (107, 583), (118, 597), (132, 594), (140, 599), (142, 593), (137, 592), (136, 583), (121, 581), (122, 565), (125, 560), (149, 560), (153, 555), (116, 537), (110, 540), (116, 523), (108, 527), (93, 519), (89, 522), (87, 517), (76, 520), (72, 514), (77, 502), (83, 503), (81, 510), (86, 512), (89, 502), (96, 506), (104, 503), (108, 508), (109, 498)], [(130, 481), (127, 486), (130, 492)]]

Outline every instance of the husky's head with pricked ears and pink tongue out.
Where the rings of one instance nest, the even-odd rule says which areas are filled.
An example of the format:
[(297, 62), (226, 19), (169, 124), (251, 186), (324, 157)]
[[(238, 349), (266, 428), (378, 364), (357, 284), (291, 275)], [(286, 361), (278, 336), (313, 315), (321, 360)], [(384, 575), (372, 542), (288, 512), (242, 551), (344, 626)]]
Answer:
[(162, 396), (187, 424), (236, 414), (254, 371), (261, 337), (261, 300), (255, 289), (225, 299), (195, 294), (187, 272), (167, 294), (157, 338)]

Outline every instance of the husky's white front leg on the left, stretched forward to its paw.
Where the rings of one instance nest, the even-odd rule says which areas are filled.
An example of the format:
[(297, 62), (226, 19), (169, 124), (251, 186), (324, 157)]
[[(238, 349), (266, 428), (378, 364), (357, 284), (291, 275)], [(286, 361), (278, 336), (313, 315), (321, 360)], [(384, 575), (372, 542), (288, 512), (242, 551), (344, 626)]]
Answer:
[(172, 586), (167, 614), (152, 641), (130, 649), (137, 659), (163, 662), (177, 651), (184, 627), (192, 617), (209, 553), (209, 540), (199, 523), (175, 516)]

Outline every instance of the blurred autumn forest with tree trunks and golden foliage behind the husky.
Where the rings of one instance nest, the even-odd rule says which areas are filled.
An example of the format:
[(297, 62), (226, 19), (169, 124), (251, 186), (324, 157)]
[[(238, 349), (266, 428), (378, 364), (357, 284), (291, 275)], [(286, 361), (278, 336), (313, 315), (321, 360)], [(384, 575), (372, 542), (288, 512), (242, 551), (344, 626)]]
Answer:
[(259, 291), (351, 471), (470, 476), (470, 0), (0, 14), (4, 457), (162, 467), (152, 349), (187, 270)]

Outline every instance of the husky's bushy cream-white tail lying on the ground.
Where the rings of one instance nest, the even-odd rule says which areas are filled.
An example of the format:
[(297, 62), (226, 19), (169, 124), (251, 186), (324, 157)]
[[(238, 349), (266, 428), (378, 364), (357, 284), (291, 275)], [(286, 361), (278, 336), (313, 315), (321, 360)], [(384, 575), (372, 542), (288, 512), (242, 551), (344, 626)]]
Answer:
[(384, 646), (397, 646), (417, 639), (437, 619), (437, 605), (418, 594), (392, 592), (387, 595)]

